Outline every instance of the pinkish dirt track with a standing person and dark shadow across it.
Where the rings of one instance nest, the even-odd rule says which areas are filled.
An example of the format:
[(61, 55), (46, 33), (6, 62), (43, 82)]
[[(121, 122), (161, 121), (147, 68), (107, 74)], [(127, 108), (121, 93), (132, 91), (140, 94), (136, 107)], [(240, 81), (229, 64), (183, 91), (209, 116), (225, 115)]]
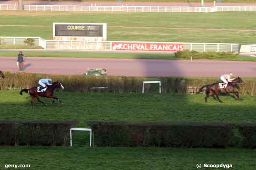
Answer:
[[(18, 72), (15, 57), (0, 57), (0, 70)], [(82, 75), (86, 68), (106, 68), (108, 75), (219, 77), (232, 71), (235, 76), (256, 77), (256, 62), (213, 60), (146, 60), (27, 57), (27, 73)]]

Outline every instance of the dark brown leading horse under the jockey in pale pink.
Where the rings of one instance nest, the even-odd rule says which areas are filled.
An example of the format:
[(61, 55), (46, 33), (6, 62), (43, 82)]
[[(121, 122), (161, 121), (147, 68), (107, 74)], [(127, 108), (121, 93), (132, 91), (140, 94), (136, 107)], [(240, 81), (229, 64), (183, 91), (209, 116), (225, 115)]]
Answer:
[(219, 99), (219, 93), (226, 93), (226, 94), (233, 93), (234, 95), (236, 95), (239, 101), (242, 101), (243, 99), (239, 98), (238, 91), (235, 90), (237, 83), (243, 85), (243, 80), (240, 77), (237, 77), (232, 82), (228, 82), (228, 86), (226, 88), (219, 88), (219, 83), (206, 84), (199, 89), (197, 94), (202, 92), (202, 90), (206, 88), (206, 92), (205, 92), (206, 97), (204, 98), (205, 102), (207, 102), (207, 98), (210, 97), (211, 95), (213, 95), (213, 97), (214, 95), (216, 95), (217, 99), (222, 103), (222, 101)]

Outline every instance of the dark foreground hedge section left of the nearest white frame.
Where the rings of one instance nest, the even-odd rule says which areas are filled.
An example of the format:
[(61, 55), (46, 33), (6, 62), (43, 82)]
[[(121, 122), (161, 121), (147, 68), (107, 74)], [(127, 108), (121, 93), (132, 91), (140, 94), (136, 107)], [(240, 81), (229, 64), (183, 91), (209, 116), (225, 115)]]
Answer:
[(76, 122), (0, 122), (0, 145), (68, 146)]

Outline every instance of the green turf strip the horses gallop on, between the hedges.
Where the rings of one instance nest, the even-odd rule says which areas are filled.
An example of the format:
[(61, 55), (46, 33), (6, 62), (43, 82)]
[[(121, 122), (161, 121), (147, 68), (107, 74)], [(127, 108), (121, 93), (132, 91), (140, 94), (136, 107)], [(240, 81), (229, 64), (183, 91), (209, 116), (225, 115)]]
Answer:
[(30, 95), (19, 91), (0, 91), (2, 120), (78, 120), (79, 126), (87, 121), (126, 122), (255, 122), (256, 96), (243, 96), (236, 101), (221, 96), (223, 104), (204, 95), (158, 95), (78, 93), (63, 91), (56, 96), (64, 102), (54, 103), (41, 97), (48, 106), (35, 101), (32, 109)]

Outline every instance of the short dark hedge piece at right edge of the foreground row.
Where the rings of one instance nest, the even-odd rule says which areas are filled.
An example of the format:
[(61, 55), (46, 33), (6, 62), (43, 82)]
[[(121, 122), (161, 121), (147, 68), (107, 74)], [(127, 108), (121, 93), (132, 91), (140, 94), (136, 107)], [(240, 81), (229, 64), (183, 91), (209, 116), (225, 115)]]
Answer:
[(256, 148), (256, 123), (239, 124), (239, 132), (243, 137), (242, 147)]

